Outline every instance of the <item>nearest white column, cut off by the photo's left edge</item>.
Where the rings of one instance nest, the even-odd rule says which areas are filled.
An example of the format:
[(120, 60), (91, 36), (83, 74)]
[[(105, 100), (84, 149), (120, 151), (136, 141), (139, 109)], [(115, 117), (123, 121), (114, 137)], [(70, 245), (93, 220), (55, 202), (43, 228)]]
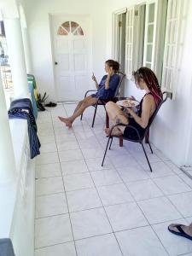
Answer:
[(0, 75), (0, 184), (15, 179), (15, 154), (12, 144), (9, 118)]

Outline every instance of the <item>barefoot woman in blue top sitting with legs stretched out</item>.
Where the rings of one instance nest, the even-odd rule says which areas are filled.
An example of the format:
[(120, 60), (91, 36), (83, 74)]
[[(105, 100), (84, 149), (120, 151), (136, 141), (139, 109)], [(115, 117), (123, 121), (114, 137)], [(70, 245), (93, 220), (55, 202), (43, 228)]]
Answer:
[(85, 108), (96, 104), (98, 98), (106, 100), (114, 96), (119, 84), (119, 75), (117, 74), (119, 72), (119, 62), (113, 60), (106, 61), (105, 71), (108, 74), (102, 77), (100, 84), (97, 83), (95, 75), (93, 74), (92, 76), (93, 81), (96, 83), (96, 94), (87, 96), (84, 100), (80, 101), (72, 116), (68, 118), (58, 117), (66, 126), (72, 127), (73, 121), (84, 112)]

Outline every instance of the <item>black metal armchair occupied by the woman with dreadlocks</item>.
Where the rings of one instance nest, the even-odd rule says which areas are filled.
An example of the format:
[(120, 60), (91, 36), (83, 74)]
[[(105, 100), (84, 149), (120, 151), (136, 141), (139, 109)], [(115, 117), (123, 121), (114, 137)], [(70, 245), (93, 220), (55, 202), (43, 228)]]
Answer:
[[(126, 140), (126, 141), (130, 141), (130, 142), (133, 142), (133, 143), (140, 143), (140, 144), (142, 145), (142, 148), (143, 148), (145, 157), (146, 157), (146, 159), (147, 159), (147, 161), (148, 161), (149, 169), (150, 169), (150, 171), (152, 172), (152, 168), (151, 168), (150, 162), (149, 162), (149, 160), (148, 160), (148, 155), (147, 155), (146, 150), (145, 150), (145, 148), (144, 148), (144, 146), (143, 146), (143, 139), (144, 139), (144, 137), (146, 137), (146, 135), (148, 134), (149, 128), (150, 128), (150, 126), (152, 125), (152, 123), (153, 123), (153, 121), (154, 121), (154, 118), (155, 118), (155, 116), (157, 115), (158, 111), (160, 110), (160, 107), (162, 106), (162, 104), (163, 104), (164, 102), (166, 102), (167, 98), (172, 99), (172, 93), (171, 93), (171, 92), (165, 91), (165, 92), (163, 93), (163, 95), (164, 95), (164, 96), (166, 95), (166, 97), (165, 97), (165, 99), (164, 99), (162, 102), (160, 102), (160, 105), (158, 106), (158, 108), (156, 108), (156, 110), (154, 111), (153, 115), (152, 115), (151, 118), (149, 119), (149, 121), (148, 121), (148, 126), (147, 126), (147, 128), (146, 128), (146, 130), (145, 130), (145, 132), (144, 132), (144, 134), (143, 134), (143, 137), (140, 137), (139, 132), (137, 131), (137, 129), (136, 129), (135, 127), (131, 126), (131, 125), (125, 125), (125, 124), (119, 123), (119, 124), (116, 124), (116, 125), (113, 125), (113, 126), (112, 126), (112, 128), (111, 128), (111, 130), (110, 130), (110, 133), (109, 133), (109, 136), (108, 136), (108, 143), (107, 143), (107, 146), (106, 146), (106, 149), (105, 149), (105, 153), (104, 153), (104, 156), (103, 156), (103, 159), (102, 159), (102, 166), (103, 166), (103, 163), (104, 163), (104, 160), (105, 160), (105, 157), (106, 157), (106, 154), (107, 154), (108, 149), (109, 149), (109, 150), (111, 149), (111, 145), (112, 145), (112, 143), (113, 143), (113, 137), (118, 137), (118, 136), (113, 136), (113, 135), (112, 135), (113, 128), (116, 127), (116, 126), (121, 125), (121, 126), (129, 127), (130, 129), (133, 129), (134, 131), (136, 131), (136, 133), (137, 133), (137, 138), (136, 138), (136, 139), (133, 140), (133, 139), (130, 139), (130, 138), (128, 138), (128, 137), (122, 137), (122, 138), (123, 138), (124, 140)], [(110, 142), (110, 140), (111, 140), (111, 142)], [(110, 145), (109, 145), (109, 148), (108, 148), (109, 142), (110, 142)], [(151, 150), (151, 153), (153, 154), (153, 150), (152, 150), (152, 148), (151, 148), (151, 145), (150, 145), (149, 141), (148, 141), (148, 146), (149, 146), (149, 148), (150, 148), (150, 150)]]

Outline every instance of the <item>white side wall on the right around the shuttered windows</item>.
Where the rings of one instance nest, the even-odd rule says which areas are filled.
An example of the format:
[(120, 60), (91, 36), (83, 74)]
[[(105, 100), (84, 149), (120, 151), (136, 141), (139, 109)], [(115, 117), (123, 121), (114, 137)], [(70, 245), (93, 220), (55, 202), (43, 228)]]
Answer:
[[(112, 13), (118, 9), (129, 7), (142, 1), (110, 0), (108, 1), (108, 26), (112, 26)], [(188, 14), (184, 20), (185, 27), (182, 45), (182, 55), (177, 79), (177, 97), (166, 102), (160, 109), (150, 133), (150, 140), (177, 166), (192, 165), (192, 1), (188, 4)], [(110, 30), (108, 30), (110, 31)], [(108, 32), (108, 44), (111, 45), (112, 33)], [(111, 51), (108, 48), (108, 53)], [(125, 95), (141, 97), (131, 81), (125, 83)]]

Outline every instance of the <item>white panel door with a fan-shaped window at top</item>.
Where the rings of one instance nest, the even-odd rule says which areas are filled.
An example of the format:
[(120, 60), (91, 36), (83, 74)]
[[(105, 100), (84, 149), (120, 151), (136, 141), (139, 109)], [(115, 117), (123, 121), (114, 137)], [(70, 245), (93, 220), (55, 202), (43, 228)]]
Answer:
[(80, 100), (90, 89), (90, 19), (53, 15), (51, 25), (57, 101)]

